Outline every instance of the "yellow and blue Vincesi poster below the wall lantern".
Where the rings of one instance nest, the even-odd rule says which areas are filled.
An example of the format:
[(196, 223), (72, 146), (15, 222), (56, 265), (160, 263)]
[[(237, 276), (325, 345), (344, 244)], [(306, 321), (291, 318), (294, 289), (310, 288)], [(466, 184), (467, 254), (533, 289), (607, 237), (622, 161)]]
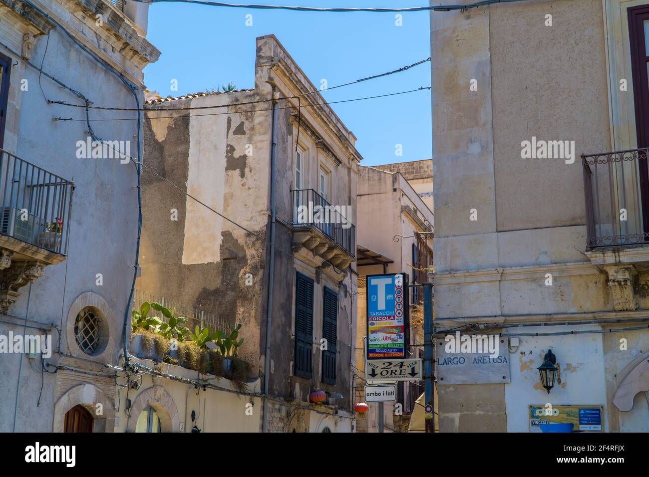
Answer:
[(573, 424), (572, 432), (604, 432), (603, 415), (604, 406), (530, 405), (530, 432), (543, 432), (541, 424)]

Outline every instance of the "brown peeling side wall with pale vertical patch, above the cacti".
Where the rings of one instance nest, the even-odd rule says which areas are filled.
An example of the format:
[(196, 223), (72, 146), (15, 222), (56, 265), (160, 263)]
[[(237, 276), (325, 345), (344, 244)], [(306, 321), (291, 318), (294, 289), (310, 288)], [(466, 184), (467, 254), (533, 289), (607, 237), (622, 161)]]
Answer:
[[(263, 93), (269, 96), (265, 91), (227, 93), (176, 101), (174, 106), (255, 101)], [(264, 299), (268, 125), (267, 112), (190, 117), (189, 111), (163, 109), (162, 114), (147, 111), (144, 128), (147, 166), (178, 186), (186, 184), (190, 195), (257, 236), (145, 169), (142, 276), (136, 287), (241, 323), (240, 356), (255, 373)], [(245, 154), (247, 144), (251, 157)], [(172, 220), (173, 210), (177, 221)], [(247, 274), (252, 285), (246, 285)]]

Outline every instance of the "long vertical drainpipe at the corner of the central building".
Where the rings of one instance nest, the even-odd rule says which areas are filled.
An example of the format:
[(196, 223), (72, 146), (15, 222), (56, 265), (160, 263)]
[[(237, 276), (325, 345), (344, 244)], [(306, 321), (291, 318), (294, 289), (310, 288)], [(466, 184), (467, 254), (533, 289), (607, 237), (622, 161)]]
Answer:
[[(271, 93), (271, 101), (273, 102), (273, 109), (271, 112), (271, 232), (268, 241), (268, 249), (270, 251), (270, 260), (268, 266), (268, 305), (266, 309), (266, 349), (263, 359), (263, 394), (268, 395), (268, 385), (270, 380), (271, 371), (271, 323), (273, 322), (273, 279), (275, 278), (275, 221), (276, 221), (276, 206), (275, 206), (275, 86), (273, 85), (273, 92)], [(263, 424), (262, 432), (268, 432), (268, 400), (263, 398)]]

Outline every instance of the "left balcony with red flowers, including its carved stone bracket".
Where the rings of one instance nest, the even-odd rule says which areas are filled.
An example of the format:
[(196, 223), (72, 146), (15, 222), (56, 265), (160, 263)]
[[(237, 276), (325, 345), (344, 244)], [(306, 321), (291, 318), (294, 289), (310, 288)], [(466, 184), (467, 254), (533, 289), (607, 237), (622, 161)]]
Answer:
[(73, 182), (0, 149), (0, 313), (66, 258)]

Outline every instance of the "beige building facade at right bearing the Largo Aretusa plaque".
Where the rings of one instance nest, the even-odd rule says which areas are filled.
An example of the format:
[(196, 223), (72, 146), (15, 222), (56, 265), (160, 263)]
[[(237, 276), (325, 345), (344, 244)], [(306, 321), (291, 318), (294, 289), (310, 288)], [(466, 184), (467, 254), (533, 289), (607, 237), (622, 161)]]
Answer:
[(446, 383), (437, 360), (441, 432), (538, 432), (546, 405), (648, 430), (645, 4), (431, 12), (437, 341), (501, 334), (508, 358)]

